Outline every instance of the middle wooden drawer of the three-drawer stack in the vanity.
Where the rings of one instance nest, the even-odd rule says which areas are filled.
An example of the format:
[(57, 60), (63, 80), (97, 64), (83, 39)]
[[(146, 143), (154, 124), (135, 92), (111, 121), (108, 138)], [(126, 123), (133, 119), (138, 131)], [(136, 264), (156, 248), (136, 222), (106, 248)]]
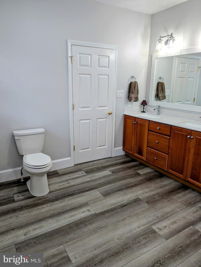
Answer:
[(169, 142), (170, 142), (170, 137), (149, 131), (148, 144), (147, 144), (149, 147), (158, 150), (160, 152), (163, 152), (165, 154), (168, 154)]

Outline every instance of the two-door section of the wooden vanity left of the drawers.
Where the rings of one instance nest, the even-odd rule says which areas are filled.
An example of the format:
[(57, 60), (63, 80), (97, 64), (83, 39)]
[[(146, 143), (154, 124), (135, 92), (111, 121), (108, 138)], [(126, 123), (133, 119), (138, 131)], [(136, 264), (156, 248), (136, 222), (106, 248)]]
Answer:
[(124, 116), (123, 150), (146, 160), (149, 121)]

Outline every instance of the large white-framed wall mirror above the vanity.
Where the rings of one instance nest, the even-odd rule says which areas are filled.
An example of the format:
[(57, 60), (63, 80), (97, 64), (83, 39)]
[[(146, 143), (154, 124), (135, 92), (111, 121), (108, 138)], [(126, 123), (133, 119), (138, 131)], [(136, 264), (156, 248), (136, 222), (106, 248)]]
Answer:
[[(153, 54), (149, 105), (201, 112), (201, 48)], [(160, 78), (162, 77), (162, 78)], [(158, 82), (165, 84), (166, 98), (155, 97)], [(159, 86), (161, 83), (159, 83)]]

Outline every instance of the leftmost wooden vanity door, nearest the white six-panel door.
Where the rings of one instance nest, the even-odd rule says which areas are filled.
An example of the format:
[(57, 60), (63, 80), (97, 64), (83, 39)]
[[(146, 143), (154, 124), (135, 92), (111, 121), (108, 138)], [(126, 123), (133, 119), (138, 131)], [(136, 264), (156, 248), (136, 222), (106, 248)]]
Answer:
[(135, 117), (124, 115), (123, 150), (133, 154)]

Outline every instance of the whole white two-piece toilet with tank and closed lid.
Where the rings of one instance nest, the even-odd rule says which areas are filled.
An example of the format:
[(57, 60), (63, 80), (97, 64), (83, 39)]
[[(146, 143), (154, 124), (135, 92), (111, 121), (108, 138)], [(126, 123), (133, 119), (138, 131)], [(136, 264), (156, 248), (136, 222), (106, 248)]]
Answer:
[(43, 154), (45, 130), (43, 128), (13, 131), (20, 155), (23, 155), (22, 166), (30, 174), (27, 187), (35, 197), (49, 192), (47, 172), (52, 168), (50, 156)]

